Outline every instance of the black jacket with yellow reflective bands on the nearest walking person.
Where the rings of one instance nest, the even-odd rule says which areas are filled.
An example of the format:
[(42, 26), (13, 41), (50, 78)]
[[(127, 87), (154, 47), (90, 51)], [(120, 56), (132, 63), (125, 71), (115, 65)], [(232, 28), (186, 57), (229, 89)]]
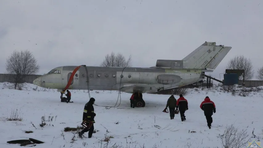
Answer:
[(94, 113), (93, 102), (86, 103), (84, 106), (82, 121), (84, 121), (86, 118), (86, 121), (92, 121), (93, 123), (95, 123), (94, 121), (95, 116), (96, 113)]

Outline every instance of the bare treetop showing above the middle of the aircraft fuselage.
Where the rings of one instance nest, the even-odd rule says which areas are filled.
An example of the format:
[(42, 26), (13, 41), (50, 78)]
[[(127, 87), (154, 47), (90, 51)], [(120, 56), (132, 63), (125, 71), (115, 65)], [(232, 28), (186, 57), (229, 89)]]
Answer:
[(118, 53), (115, 55), (113, 52), (109, 55), (107, 54), (105, 56), (105, 59), (101, 63), (100, 66), (105, 67), (131, 67), (131, 55), (129, 56), (129, 59), (126, 60), (125, 57)]

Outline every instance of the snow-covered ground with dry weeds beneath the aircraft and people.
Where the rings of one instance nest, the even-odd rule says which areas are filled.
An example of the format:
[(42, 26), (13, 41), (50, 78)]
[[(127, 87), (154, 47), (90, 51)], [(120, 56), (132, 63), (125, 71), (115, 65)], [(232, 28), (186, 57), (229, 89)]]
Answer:
[[(121, 104), (118, 107), (105, 109), (95, 106), (96, 133), (92, 138), (72, 137), (76, 132), (64, 132), (65, 127), (77, 127), (82, 121), (83, 109), (88, 102), (88, 91), (72, 90), (74, 103), (60, 102), (60, 92), (52, 89), (37, 88), (33, 84), (26, 84), (23, 90), (9, 89), (7, 83), (0, 84), (0, 147), (21, 147), (19, 144), (8, 144), (7, 141), (34, 138), (45, 143), (36, 144), (36, 147), (72, 147), (93, 148), (104, 147), (106, 129), (110, 136), (109, 145), (123, 146), (124, 148), (197, 148), (222, 147), (221, 139), (226, 125), (234, 124), (239, 130), (247, 130), (250, 141), (263, 140), (262, 103), (263, 91), (254, 88), (255, 92), (236, 91), (224, 92), (222, 88), (211, 90), (195, 88), (184, 96), (188, 100), (189, 109), (186, 111), (186, 121), (182, 122), (179, 114), (170, 120), (169, 113), (163, 113), (166, 101), (170, 95), (143, 94), (146, 102), (144, 108), (130, 108), (131, 94), (121, 93)], [(238, 88), (241, 89), (241, 88)], [(248, 88), (250, 89), (250, 88)], [(91, 97), (96, 99), (95, 104), (114, 106), (117, 101), (116, 91), (90, 91)], [(216, 113), (212, 116), (212, 128), (208, 129), (200, 103), (209, 96), (216, 105)], [(243, 97), (246, 96), (246, 97)], [(179, 98), (179, 96), (176, 96)], [(7, 121), (13, 110), (18, 109), (22, 121)], [(47, 125), (40, 127), (41, 117), (45, 116)], [(47, 121), (48, 117), (54, 117)], [(117, 123), (117, 124), (116, 124)], [(34, 124), (35, 127), (32, 125)], [(252, 131), (255, 138), (251, 138)], [(25, 133), (33, 131), (33, 133)], [(62, 132), (63, 131), (63, 132)], [(61, 134), (64, 134), (64, 138)], [(88, 134), (86, 133), (85, 136)], [(248, 144), (246, 145), (248, 146)], [(244, 146), (244, 147), (246, 147)], [(108, 146), (110, 147), (110, 146)]]

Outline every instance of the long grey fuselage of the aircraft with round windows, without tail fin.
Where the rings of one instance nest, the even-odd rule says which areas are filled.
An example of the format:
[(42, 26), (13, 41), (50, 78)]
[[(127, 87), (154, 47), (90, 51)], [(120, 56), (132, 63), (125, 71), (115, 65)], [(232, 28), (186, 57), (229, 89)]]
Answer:
[[(34, 84), (43, 88), (62, 90), (77, 66), (57, 67), (34, 80)], [(128, 87), (137, 84), (137, 88), (124, 90), (133, 93), (157, 92), (158, 90), (176, 88), (192, 84), (204, 79), (202, 69), (166, 69), (166, 68), (134, 68), (134, 67), (80, 67), (73, 77), (68, 89), (76, 90), (119, 90), (120, 86)], [(203, 74), (203, 75), (202, 75)], [(121, 85), (120, 85), (121, 84)], [(140, 84), (148, 87), (140, 87)], [(149, 88), (149, 89), (147, 89)]]

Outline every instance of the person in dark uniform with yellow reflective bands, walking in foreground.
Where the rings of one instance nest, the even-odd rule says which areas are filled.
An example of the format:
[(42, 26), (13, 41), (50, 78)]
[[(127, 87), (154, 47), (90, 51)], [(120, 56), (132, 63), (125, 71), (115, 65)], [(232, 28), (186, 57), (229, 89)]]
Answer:
[(87, 127), (79, 132), (79, 137), (81, 137), (85, 132), (88, 132), (88, 138), (92, 137), (93, 131), (94, 131), (94, 117), (96, 116), (96, 113), (94, 113), (94, 107), (93, 104), (95, 102), (94, 98), (90, 98), (88, 103), (84, 106), (83, 111), (83, 117), (82, 121), (86, 121)]

